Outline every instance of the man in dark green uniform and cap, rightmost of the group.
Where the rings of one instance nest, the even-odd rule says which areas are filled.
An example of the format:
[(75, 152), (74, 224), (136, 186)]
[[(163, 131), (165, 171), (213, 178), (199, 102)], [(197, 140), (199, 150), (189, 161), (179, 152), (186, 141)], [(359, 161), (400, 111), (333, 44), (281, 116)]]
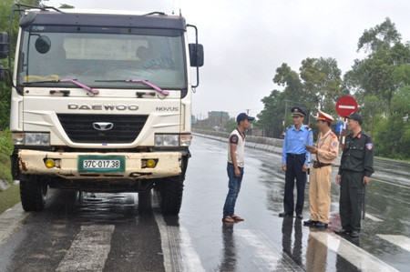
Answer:
[(339, 212), (342, 229), (334, 232), (359, 237), (364, 186), (370, 184), (370, 176), (374, 173), (374, 146), (372, 138), (362, 130), (362, 116), (353, 113), (347, 118), (347, 127), (351, 134), (346, 136), (339, 173), (336, 176), (336, 182), (340, 184)]

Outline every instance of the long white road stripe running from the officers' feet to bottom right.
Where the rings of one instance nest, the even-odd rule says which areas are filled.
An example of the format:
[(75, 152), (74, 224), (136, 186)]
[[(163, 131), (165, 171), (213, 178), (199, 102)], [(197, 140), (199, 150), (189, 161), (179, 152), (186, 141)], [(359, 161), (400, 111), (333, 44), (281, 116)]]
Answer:
[(361, 271), (397, 271), (395, 267), (387, 265), (364, 249), (354, 246), (351, 242), (333, 233), (311, 231), (310, 235)]

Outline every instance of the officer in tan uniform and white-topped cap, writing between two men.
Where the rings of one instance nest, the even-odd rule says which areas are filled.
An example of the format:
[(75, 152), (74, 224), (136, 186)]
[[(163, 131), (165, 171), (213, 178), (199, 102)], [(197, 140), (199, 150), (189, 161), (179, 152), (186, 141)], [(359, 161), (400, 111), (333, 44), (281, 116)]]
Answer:
[(339, 141), (330, 128), (333, 117), (319, 111), (316, 118), (319, 136), (314, 146), (306, 146), (313, 156), (313, 169), (309, 182), (311, 218), (305, 226), (320, 230), (327, 228), (331, 206), (332, 164), (339, 154)]

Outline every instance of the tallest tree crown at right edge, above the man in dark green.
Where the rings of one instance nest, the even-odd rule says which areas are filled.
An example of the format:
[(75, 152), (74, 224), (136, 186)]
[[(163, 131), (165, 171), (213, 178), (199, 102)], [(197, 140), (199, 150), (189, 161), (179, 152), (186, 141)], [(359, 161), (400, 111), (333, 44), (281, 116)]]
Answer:
[(410, 45), (404, 45), (400, 40), (401, 35), (389, 18), (381, 25), (365, 30), (360, 37), (358, 50), (366, 48), (369, 55), (363, 60), (355, 60), (352, 70), (343, 78), (343, 86), (360, 104), (365, 96), (377, 96), (390, 110), (392, 98), (403, 86), (404, 74), (408, 72), (406, 66), (410, 63)]

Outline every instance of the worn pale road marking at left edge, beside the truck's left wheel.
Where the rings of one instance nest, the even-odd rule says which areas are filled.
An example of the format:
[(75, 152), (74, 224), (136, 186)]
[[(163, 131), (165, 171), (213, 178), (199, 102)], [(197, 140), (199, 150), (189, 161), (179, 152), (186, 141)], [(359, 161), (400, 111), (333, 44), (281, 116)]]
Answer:
[(23, 210), (21, 203), (0, 215), (0, 246), (23, 226), (22, 222), (30, 215)]

